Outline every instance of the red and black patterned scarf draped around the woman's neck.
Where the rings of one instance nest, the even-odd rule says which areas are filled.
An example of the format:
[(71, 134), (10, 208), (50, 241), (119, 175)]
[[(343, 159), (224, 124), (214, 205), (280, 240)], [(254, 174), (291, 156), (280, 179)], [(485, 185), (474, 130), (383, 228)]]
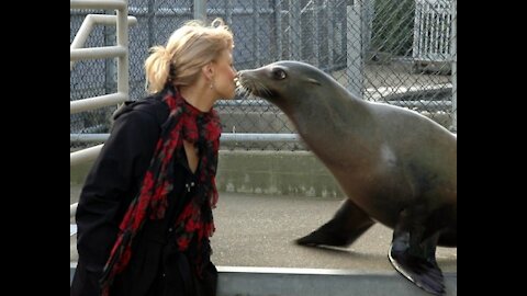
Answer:
[[(141, 231), (147, 217), (165, 217), (167, 195), (173, 187), (173, 170), (170, 166), (176, 151), (183, 148), (183, 139), (194, 144), (200, 152), (200, 162), (195, 172), (198, 184), (192, 191), (190, 202), (178, 214), (175, 225), (176, 243), (180, 251), (187, 250), (189, 242), (197, 237), (198, 275), (201, 275), (201, 260), (210, 255), (210, 248), (202, 248), (214, 232), (212, 208), (217, 202), (215, 183), (217, 150), (222, 133), (220, 118), (214, 110), (203, 113), (186, 103), (181, 94), (168, 88), (162, 98), (170, 114), (162, 125), (150, 164), (146, 171), (138, 195), (132, 201), (120, 225), (120, 234), (101, 277), (102, 295), (109, 295), (110, 286), (116, 274), (130, 262), (132, 241)], [(200, 254), (201, 253), (201, 254)]]

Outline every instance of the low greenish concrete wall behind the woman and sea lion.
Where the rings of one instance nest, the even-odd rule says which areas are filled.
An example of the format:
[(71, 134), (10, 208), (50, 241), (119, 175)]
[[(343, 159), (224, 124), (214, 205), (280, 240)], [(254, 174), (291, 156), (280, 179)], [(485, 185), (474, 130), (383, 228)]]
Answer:
[[(92, 163), (70, 168), (71, 185), (81, 185)], [(333, 175), (307, 151), (220, 150), (220, 192), (344, 197)]]

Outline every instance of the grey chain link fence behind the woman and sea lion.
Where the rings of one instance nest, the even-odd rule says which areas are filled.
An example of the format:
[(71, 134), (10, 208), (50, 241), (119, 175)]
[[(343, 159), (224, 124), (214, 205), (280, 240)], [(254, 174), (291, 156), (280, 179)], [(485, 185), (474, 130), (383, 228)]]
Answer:
[[(282, 59), (310, 62), (365, 100), (415, 110), (457, 130), (455, 0), (130, 0), (130, 96), (146, 92), (143, 62), (148, 48), (205, 7), (208, 21), (222, 18), (235, 35), (239, 69)], [(71, 10), (70, 42), (87, 13)], [(114, 45), (115, 27), (97, 27), (86, 47)], [(116, 90), (116, 62), (78, 61), (70, 72), (70, 100)], [(224, 133), (295, 133), (284, 114), (264, 100), (218, 101)], [(72, 114), (70, 133), (108, 133), (115, 107)], [(71, 149), (87, 144), (71, 143)], [(90, 144), (92, 145), (92, 144)], [(223, 149), (306, 149), (298, 143), (222, 143)]]

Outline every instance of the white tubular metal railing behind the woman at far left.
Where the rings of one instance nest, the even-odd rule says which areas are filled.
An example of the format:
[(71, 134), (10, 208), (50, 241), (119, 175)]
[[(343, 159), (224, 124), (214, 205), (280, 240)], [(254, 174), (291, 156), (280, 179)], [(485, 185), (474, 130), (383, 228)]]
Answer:
[[(117, 91), (105, 95), (70, 101), (69, 113), (94, 110), (109, 105), (116, 105), (128, 100), (128, 25), (137, 23), (137, 19), (128, 16), (127, 0), (70, 0), (70, 9), (102, 9), (115, 10), (116, 15), (88, 14), (69, 47), (70, 70), (75, 61), (82, 59), (117, 58)], [(82, 48), (94, 25), (116, 25), (116, 45)], [(94, 159), (102, 145), (71, 152), (69, 166), (76, 166)], [(72, 217), (77, 203), (70, 205), (69, 215)]]

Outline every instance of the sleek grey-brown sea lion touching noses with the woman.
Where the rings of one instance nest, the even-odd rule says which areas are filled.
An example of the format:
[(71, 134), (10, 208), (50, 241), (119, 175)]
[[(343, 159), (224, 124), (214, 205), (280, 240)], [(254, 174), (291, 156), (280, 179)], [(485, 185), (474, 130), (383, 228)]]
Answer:
[(457, 136), (414, 111), (361, 100), (300, 61), (242, 70), (238, 82), (285, 113), (348, 197), (296, 242), (349, 246), (379, 221), (394, 230), (388, 255), (394, 269), (445, 294), (435, 252), (457, 247)]

